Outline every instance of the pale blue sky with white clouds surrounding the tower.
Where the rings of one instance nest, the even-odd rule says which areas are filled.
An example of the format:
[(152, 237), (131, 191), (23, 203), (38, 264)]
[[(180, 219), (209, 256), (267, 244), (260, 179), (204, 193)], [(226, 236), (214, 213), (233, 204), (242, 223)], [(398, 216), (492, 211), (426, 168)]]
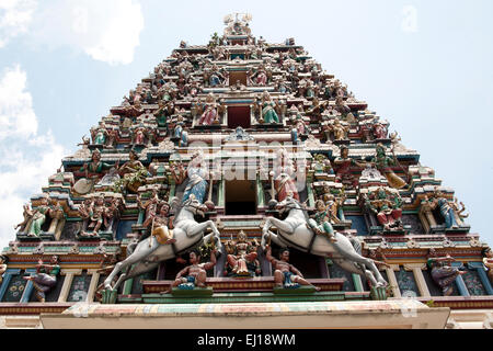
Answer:
[(0, 246), (60, 159), (181, 39), (249, 12), (390, 121), (493, 244), (492, 1), (0, 0)]

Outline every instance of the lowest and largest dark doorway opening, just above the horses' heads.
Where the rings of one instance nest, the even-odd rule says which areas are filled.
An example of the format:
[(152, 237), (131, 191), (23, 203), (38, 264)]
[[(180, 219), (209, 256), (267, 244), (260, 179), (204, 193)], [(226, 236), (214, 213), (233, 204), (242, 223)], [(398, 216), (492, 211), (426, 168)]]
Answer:
[(225, 196), (227, 216), (256, 214), (255, 181), (227, 181)]

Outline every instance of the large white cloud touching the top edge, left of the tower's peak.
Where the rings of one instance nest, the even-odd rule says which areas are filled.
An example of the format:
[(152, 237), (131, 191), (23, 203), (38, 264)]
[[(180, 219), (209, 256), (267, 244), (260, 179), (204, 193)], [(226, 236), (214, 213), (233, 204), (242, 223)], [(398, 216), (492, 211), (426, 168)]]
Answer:
[(33, 36), (51, 47), (68, 45), (95, 60), (127, 65), (142, 30), (137, 0), (55, 0), (36, 16)]

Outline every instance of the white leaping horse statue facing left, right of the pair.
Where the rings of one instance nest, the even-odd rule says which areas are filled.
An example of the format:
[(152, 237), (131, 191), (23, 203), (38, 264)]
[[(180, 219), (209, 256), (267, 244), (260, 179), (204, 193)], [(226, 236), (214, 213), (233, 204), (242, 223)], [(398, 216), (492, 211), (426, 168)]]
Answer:
[[(263, 249), (270, 238), (280, 247), (293, 247), (303, 252), (330, 257), (341, 268), (366, 276), (372, 286), (387, 286), (387, 282), (374, 260), (360, 254), (360, 244), (356, 238), (348, 239), (345, 235), (335, 231), (336, 241), (331, 242), (325, 236), (317, 235), (307, 226), (306, 210), (290, 196), (279, 202), (276, 208), (280, 213), (287, 212), (288, 215), (284, 220), (274, 217), (266, 218), (262, 236)], [(278, 229), (277, 235), (270, 230), (272, 225)]]

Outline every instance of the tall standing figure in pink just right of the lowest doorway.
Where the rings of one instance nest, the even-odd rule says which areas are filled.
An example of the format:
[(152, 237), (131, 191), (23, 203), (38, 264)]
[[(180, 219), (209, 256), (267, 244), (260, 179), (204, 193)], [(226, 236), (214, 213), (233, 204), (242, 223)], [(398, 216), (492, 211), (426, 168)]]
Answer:
[(279, 149), (276, 152), (275, 169), (271, 172), (274, 177), (274, 188), (278, 202), (284, 201), (288, 195), (300, 201), (296, 182), (291, 178), (295, 171), (295, 165), (289, 159), (287, 150), (285, 148)]

